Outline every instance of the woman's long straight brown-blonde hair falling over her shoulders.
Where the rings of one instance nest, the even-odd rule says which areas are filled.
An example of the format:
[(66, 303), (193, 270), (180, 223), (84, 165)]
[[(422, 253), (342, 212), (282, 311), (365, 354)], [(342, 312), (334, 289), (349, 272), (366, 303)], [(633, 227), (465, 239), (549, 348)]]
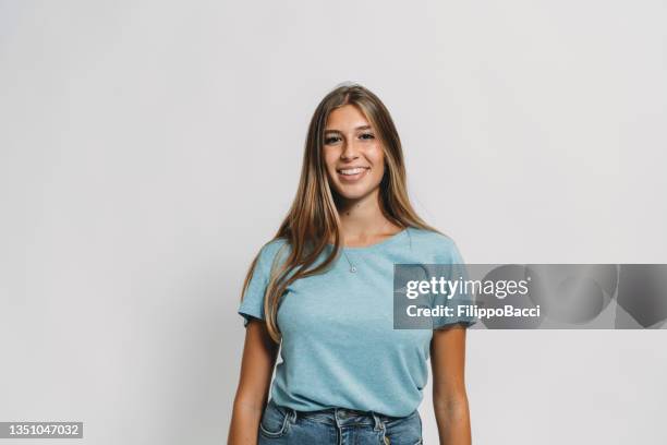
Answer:
[[(287, 260), (271, 272), (264, 294), (264, 318), (268, 333), (276, 342), (280, 341), (281, 336), (277, 323), (278, 303), (286, 289), (300, 278), (326, 269), (340, 251), (340, 219), (336, 192), (329, 187), (323, 145), (329, 113), (344, 105), (357, 107), (375, 129), (384, 147), (386, 167), (379, 184), (379, 204), (384, 216), (401, 228), (416, 227), (439, 232), (424, 222), (410, 204), (401, 141), (385, 105), (375, 94), (359, 84), (336, 87), (325, 96), (313, 113), (296, 195), (278, 232), (270, 240), (284, 239), (291, 248)], [(310, 269), (331, 239), (331, 253), (317, 267)], [(247, 270), (242, 298), (253, 277), (258, 256), (255, 256)]]

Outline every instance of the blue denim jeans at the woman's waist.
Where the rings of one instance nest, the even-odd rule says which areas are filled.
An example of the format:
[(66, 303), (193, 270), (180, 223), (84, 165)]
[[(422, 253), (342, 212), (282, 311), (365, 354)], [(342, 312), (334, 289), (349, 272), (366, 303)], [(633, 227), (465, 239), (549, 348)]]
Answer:
[(259, 423), (258, 445), (422, 445), (422, 418), (330, 408), (296, 411), (268, 401)]

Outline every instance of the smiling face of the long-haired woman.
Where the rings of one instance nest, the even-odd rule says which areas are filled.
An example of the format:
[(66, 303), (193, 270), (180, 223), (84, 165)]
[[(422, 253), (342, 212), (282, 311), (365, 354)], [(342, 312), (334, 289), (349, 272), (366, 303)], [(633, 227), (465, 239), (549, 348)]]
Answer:
[(324, 158), (329, 184), (347, 200), (376, 192), (385, 175), (385, 152), (377, 133), (353, 105), (329, 113)]

